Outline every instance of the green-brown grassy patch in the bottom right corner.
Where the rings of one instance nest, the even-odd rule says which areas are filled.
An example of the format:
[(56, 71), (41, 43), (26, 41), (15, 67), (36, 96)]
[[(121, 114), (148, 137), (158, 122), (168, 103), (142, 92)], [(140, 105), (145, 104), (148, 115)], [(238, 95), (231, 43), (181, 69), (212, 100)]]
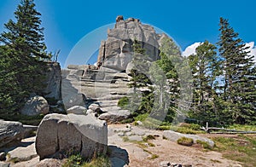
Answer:
[(224, 158), (239, 161), (247, 167), (256, 166), (256, 136), (237, 135), (230, 137), (214, 137), (215, 151), (221, 152)]

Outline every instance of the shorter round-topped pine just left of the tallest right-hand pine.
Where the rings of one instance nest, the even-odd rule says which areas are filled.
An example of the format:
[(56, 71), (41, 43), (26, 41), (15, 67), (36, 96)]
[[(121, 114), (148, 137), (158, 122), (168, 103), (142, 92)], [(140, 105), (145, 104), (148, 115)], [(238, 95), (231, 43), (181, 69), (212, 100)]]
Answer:
[(217, 48), (212, 43), (205, 41), (195, 49), (195, 55), (189, 55), (195, 88), (193, 115), (201, 121), (211, 123), (218, 118), (215, 100), (219, 60), (215, 49)]

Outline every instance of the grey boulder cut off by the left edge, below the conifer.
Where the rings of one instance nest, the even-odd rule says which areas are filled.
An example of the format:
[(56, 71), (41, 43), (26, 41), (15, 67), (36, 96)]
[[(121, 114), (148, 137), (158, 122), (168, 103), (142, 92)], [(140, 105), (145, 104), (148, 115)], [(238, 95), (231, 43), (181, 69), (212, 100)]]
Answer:
[(0, 147), (23, 138), (23, 126), (19, 122), (0, 119)]

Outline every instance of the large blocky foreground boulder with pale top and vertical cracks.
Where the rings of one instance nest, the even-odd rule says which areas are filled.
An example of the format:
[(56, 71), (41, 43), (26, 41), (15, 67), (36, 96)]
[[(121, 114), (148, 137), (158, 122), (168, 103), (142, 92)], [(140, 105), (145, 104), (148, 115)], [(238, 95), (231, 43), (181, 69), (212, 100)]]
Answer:
[(93, 115), (49, 114), (38, 126), (36, 150), (40, 159), (76, 152), (84, 158), (107, 153), (108, 127)]

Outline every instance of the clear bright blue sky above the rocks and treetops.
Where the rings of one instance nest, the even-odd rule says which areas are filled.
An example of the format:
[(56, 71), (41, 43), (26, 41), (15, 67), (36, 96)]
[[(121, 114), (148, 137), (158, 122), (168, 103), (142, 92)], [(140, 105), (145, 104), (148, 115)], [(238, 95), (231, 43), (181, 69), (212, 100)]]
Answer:
[[(14, 18), (18, 3), (20, 0), (0, 1), (0, 32), (4, 30), (3, 24)], [(86, 63), (100, 41), (107, 37), (105, 31), (113, 26), (117, 15), (124, 15), (126, 19), (138, 18), (143, 23), (160, 28), (169, 34), (182, 50), (189, 46), (193, 50), (197, 42), (206, 39), (216, 43), (218, 20), (219, 17), (224, 17), (230, 20), (230, 26), (234, 27), (244, 42), (250, 43), (255, 51), (255, 43), (251, 43), (256, 41), (254, 0), (35, 0), (35, 3), (42, 14), (45, 43), (49, 51), (61, 49), (59, 61), (62, 67), (67, 60), (72, 62), (76, 59), (72, 56), (76, 54), (74, 47), (86, 50), (84, 57), (79, 58), (79, 64)], [(81, 41), (83, 37), (84, 41)]]

